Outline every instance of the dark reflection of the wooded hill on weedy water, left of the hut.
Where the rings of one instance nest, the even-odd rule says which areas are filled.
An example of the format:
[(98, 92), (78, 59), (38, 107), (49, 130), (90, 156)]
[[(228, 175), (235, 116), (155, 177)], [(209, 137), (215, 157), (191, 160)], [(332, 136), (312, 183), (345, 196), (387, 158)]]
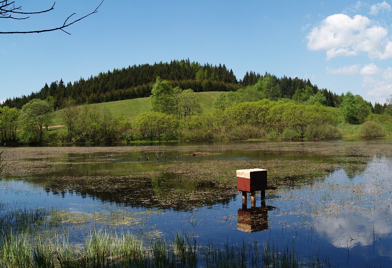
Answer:
[[(42, 181), (39, 183), (42, 184)], [(103, 202), (174, 210), (228, 203), (237, 194), (230, 186), (213, 181), (190, 180), (174, 173), (162, 173), (156, 178), (63, 177), (52, 180), (44, 188), (55, 195), (65, 196), (68, 191)]]

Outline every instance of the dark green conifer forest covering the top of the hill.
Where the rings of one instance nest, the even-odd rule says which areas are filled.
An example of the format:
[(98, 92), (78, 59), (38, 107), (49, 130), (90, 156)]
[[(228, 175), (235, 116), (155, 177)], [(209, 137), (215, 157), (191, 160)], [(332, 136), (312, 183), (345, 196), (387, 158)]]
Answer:
[[(266, 73), (266, 75), (269, 75)], [(38, 92), (32, 92), (28, 96), (7, 99), (2, 106), (22, 108), (28, 101), (38, 98), (48, 100), (54, 109), (61, 108), (64, 98), (72, 98), (76, 104), (102, 103), (148, 97), (157, 77), (168, 80), (175, 87), (182, 89), (191, 88), (199, 91), (235, 91), (241, 87), (255, 84), (260, 74), (246, 72), (244, 79), (237, 80), (233, 71), (227, 69), (223, 64), (213, 66), (212, 64), (201, 65), (198, 62), (186, 60), (172, 60), (170, 63), (155, 63), (153, 65), (133, 65), (128, 68), (114, 69), (107, 73), (99, 73), (85, 80), (65, 82), (53, 81)], [(309, 80), (298, 78), (276, 78), (269, 75), (280, 89), (280, 97), (291, 99), (295, 90), (310, 86), (314, 92), (318, 91)], [(330, 95), (329, 106), (334, 106), (334, 94), (325, 90), (324, 95)], [(328, 94), (329, 93), (329, 94)], [(336, 95), (335, 95), (336, 98)]]

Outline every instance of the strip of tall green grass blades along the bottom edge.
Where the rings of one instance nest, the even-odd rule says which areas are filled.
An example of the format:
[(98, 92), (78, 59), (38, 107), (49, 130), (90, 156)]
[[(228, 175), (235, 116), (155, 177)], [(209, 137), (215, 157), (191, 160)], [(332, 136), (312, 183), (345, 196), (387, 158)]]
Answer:
[[(59, 240), (60, 241), (60, 240)], [(30, 244), (23, 236), (9, 236), (0, 247), (0, 263), (6, 268), (98, 268), (98, 267), (324, 267), (328, 262), (301, 263), (294, 248), (280, 252), (270, 244), (218, 246), (196, 245), (194, 237), (174, 234), (173, 240), (157, 238), (144, 242), (129, 233), (94, 231), (85, 244), (67, 239), (50, 244)]]

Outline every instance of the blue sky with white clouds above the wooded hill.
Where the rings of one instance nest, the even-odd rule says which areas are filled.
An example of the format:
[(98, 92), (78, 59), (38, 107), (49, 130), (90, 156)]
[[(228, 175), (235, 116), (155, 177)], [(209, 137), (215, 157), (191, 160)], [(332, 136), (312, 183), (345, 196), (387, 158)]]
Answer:
[[(101, 0), (56, 0), (0, 31), (58, 27)], [(25, 11), (50, 0), (16, 0)], [(0, 35), (0, 101), (133, 64), (187, 59), (310, 79), (337, 94), (384, 103), (392, 94), (392, 0), (104, 0), (98, 13), (62, 31)]]

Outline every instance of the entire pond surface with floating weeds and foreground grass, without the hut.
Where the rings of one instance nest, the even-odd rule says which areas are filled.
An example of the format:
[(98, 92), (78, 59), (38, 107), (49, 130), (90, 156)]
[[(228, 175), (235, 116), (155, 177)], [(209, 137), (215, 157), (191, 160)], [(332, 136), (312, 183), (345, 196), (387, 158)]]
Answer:
[[(149, 160), (138, 160), (141, 152)], [(391, 261), (383, 253), (392, 244), (389, 140), (4, 148), (4, 156), (1, 193), (21, 203), (0, 203), (1, 230), (12, 230), (0, 240), (12, 239), (4, 250), (29, 256), (31, 265)], [(255, 208), (242, 204), (235, 178), (236, 169), (253, 167), (267, 168), (269, 185), (278, 187), (262, 202), (257, 192)]]

